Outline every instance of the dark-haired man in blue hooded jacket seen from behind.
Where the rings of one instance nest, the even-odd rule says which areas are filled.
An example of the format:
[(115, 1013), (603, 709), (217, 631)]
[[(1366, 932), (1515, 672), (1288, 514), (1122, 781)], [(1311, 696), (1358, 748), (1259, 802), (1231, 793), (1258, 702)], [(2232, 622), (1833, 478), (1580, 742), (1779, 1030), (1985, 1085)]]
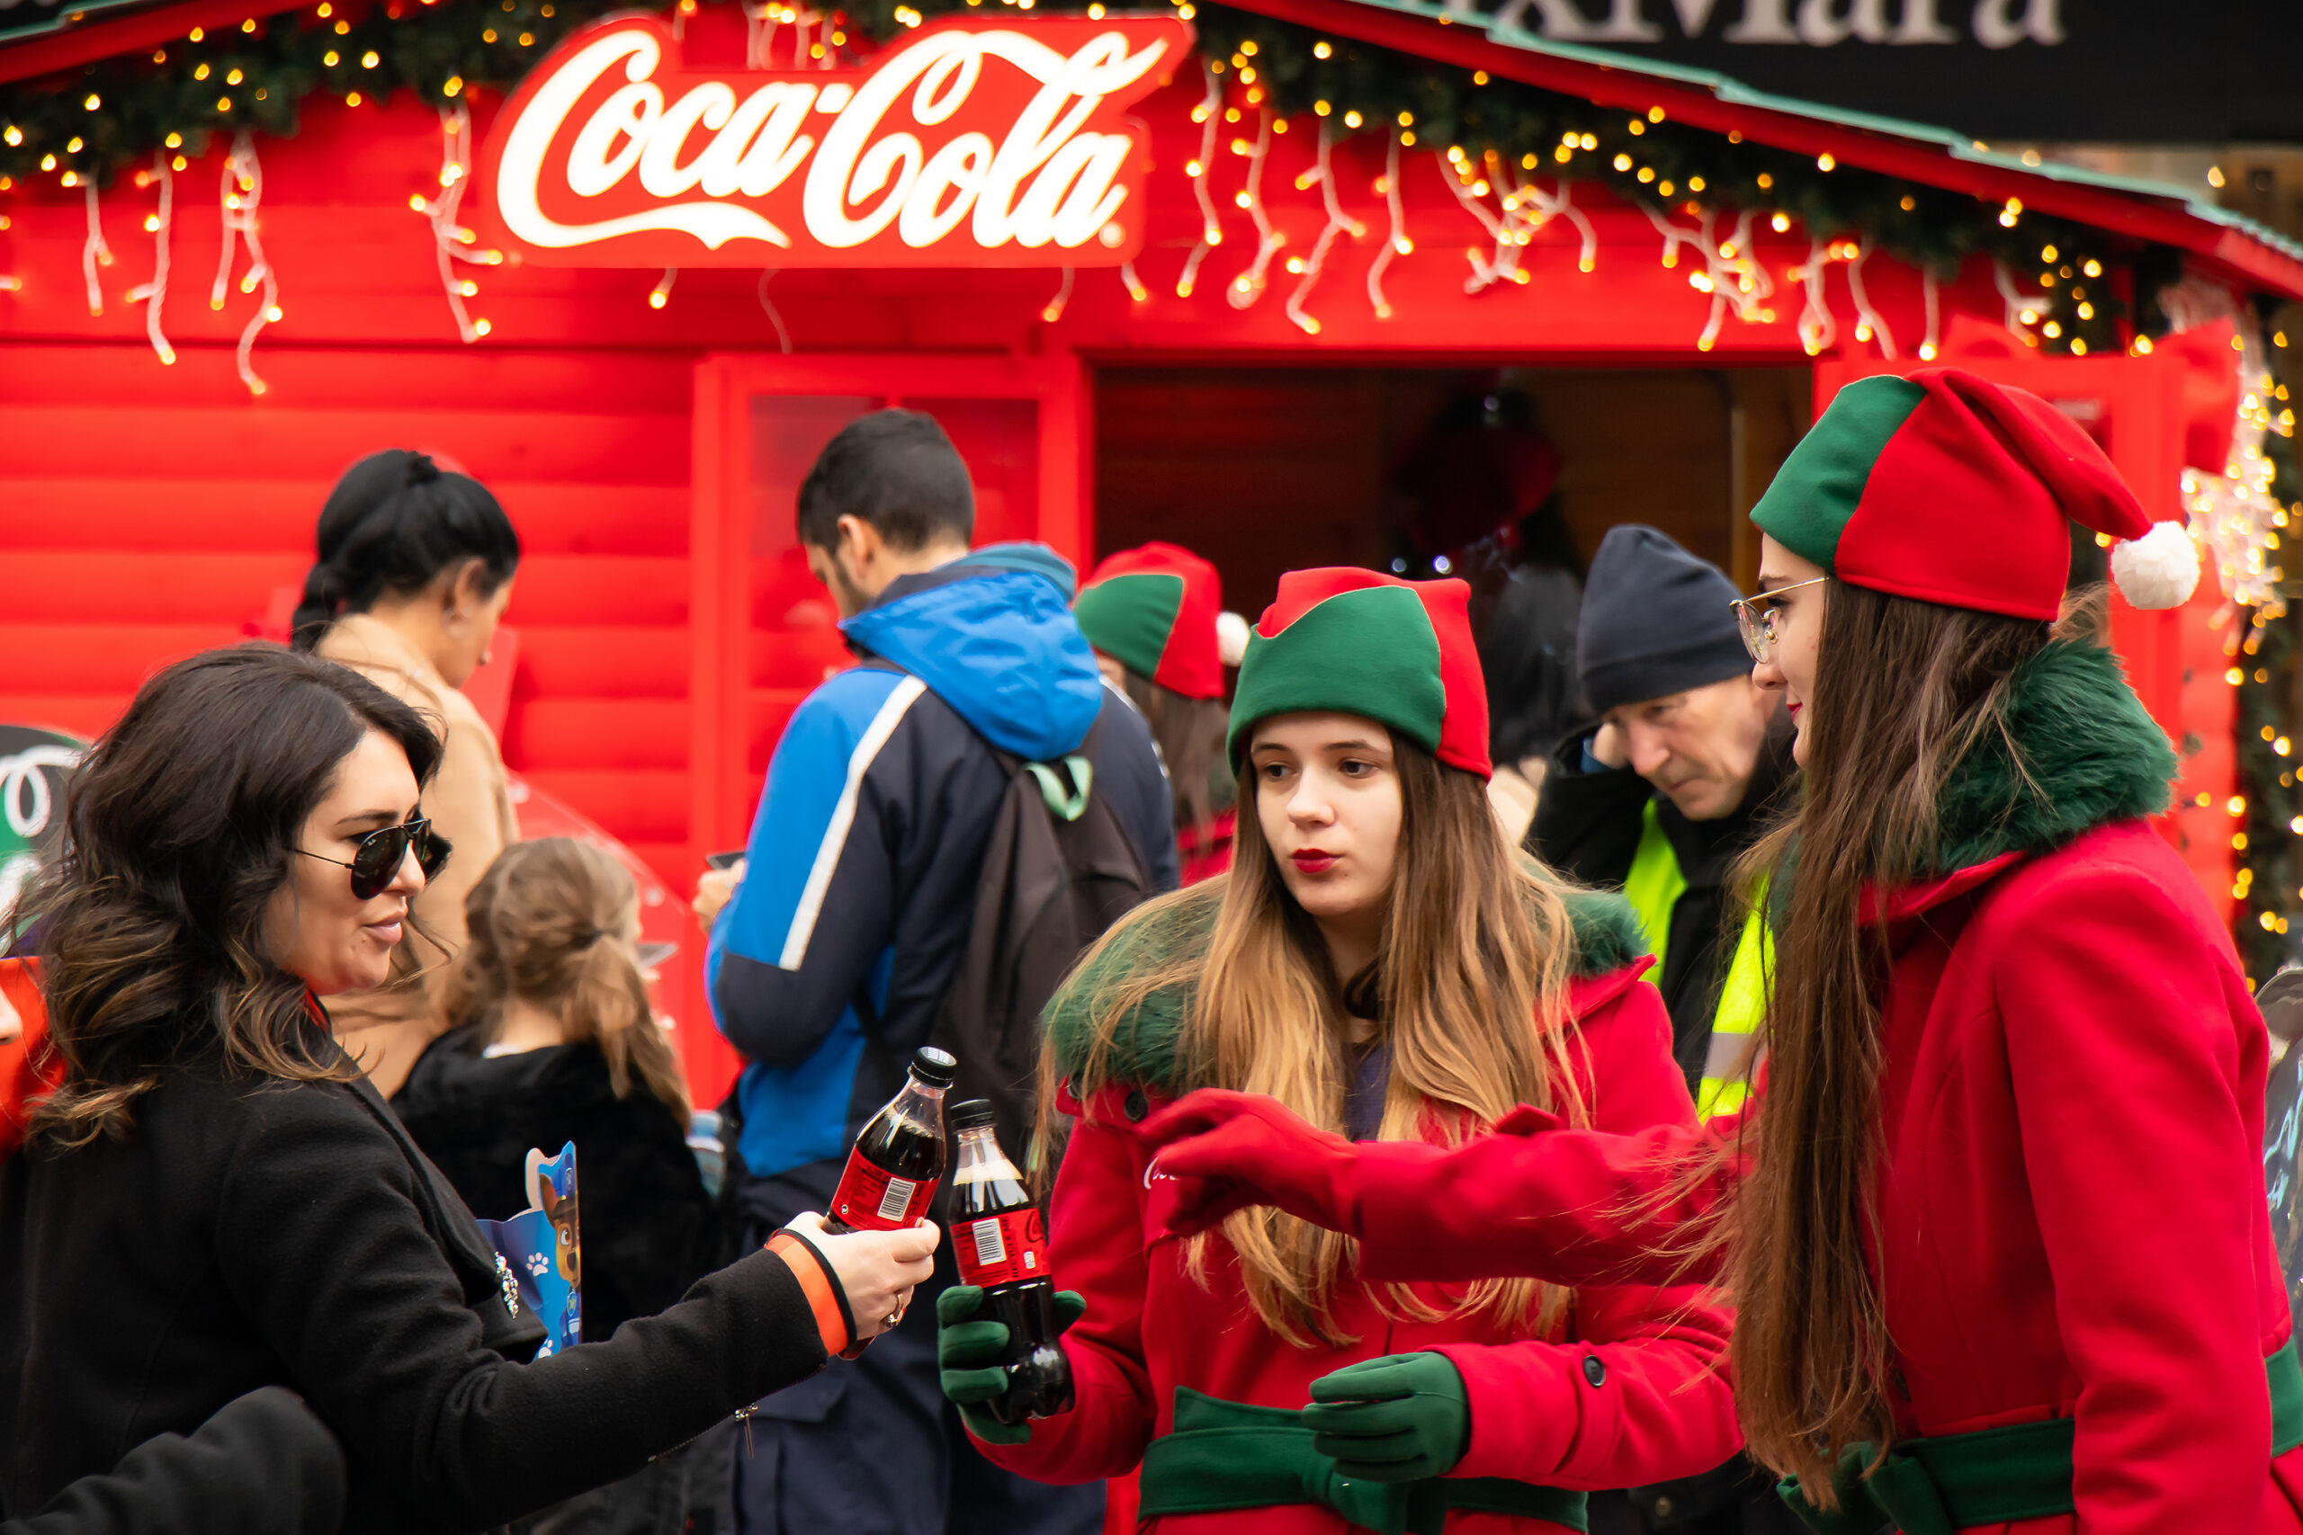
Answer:
[[(705, 971), (737, 1082), (753, 1240), (829, 1206), (848, 1146), (928, 1040), (967, 941), (993, 817), (1025, 762), (1096, 734), (1108, 794), (1152, 881), (1177, 881), (1152, 734), (1103, 686), (1041, 545), (970, 552), (974, 492), (933, 417), (882, 410), (824, 446), (799, 488), (799, 543), (866, 665), (792, 713), (744, 872)], [(698, 911), (728, 881), (707, 877)], [(937, 1289), (951, 1282), (949, 1245)], [(935, 1296), (861, 1360), (767, 1397), (739, 1448), (746, 1535), (1087, 1535), (1101, 1487), (1041, 1487), (970, 1445), (935, 1374)]]

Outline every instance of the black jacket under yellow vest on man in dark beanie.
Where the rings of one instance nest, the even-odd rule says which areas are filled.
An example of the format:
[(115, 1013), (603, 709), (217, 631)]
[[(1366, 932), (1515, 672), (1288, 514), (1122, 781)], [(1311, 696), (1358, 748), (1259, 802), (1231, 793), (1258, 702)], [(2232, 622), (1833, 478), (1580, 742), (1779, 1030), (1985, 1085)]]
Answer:
[(1596, 732), (1594, 725), (1552, 750), (1552, 766), (1536, 799), (1536, 819), (1527, 828), (1527, 851), (1571, 879), (1619, 888), (1631, 875), (1631, 856), (1640, 849), (1640, 812), (1647, 801), (1656, 801), (1656, 824), (1688, 881), (1672, 904), (1672, 932), (1656, 987), (1672, 1013), (1672, 1056), (1693, 1093), (1704, 1075), (1711, 1015), (1718, 1013), (1720, 987), (1727, 985), (1727, 962), (1734, 960), (1736, 934), (1727, 932), (1732, 918), (1727, 872), (1787, 803), (1780, 789), (1796, 771), (1792, 720), (1783, 709), (1776, 711), (1743, 803), (1716, 822), (1690, 822), (1679, 815), (1670, 799), (1656, 794), (1631, 769), (1584, 773), (1584, 746)]

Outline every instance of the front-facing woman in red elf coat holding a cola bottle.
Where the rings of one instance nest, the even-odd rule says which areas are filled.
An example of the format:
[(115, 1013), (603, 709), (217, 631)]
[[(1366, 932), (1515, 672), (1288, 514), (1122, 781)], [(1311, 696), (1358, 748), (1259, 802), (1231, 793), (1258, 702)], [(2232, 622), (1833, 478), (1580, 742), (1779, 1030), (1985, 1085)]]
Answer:
[(1610, 895), (1508, 851), (1462, 582), (1299, 571), (1251, 640), (1227, 750), (1239, 861), (1147, 904), (1048, 1010), (1043, 1102), (1076, 1114), (1050, 1206), (1076, 1406), (1006, 1429), (1006, 1328), (942, 1296), (944, 1390), (997, 1464), (1142, 1464), (1158, 1530), (1582, 1528), (1582, 1491), (1734, 1452), (1725, 1319), (1695, 1286), (1370, 1286), (1280, 1213), (1163, 1227), (1135, 1135), (1198, 1084), (1361, 1139), (1476, 1141), (1515, 1102), (1690, 1128), (1670, 1024)]

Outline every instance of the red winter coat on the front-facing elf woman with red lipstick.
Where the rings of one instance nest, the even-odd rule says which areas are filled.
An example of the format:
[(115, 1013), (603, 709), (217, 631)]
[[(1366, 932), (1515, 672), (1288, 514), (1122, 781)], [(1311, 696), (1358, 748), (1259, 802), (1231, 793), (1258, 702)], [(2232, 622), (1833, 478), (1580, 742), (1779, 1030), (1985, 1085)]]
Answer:
[[(1582, 900), (1582, 898), (1580, 898)], [(1693, 1128), (1672, 1031), (1644, 969), (1575, 980), (1568, 1010), (1582, 1049), (1571, 1091), (1596, 1125)], [(1062, 1008), (1062, 999), (1057, 1001)], [(1584, 1056), (1587, 1052), (1587, 1056)], [(1131, 1102), (1133, 1100), (1133, 1102)], [(1029, 1443), (981, 1445), (1000, 1466), (1041, 1482), (1087, 1482), (1131, 1471), (1165, 1434), (1175, 1390), (1301, 1408), (1310, 1383), (1384, 1353), (1437, 1349), (1462, 1372), (1469, 1450), (1453, 1475), (1511, 1477), (1566, 1489), (1628, 1487), (1709, 1471), (1741, 1436), (1725, 1379), (1725, 1316), (1693, 1286), (1594, 1284), (1575, 1293), (1557, 1337), (1508, 1332), (1485, 1319), (1416, 1323), (1384, 1316), (1366, 1291), (1338, 1300), (1359, 1342), (1301, 1349), (1264, 1328), (1246, 1303), (1237, 1257), (1211, 1238), (1207, 1284), (1184, 1270), (1184, 1243), (1145, 1211), (1149, 1151), (1131, 1132), (1163, 1093), (1096, 1093), (1064, 1153), (1050, 1204), (1057, 1284), (1087, 1298), (1064, 1335), (1078, 1406), (1036, 1422)], [(1131, 1112), (1133, 1109), (1133, 1112)], [(1416, 1286), (1442, 1300), (1437, 1286)], [(1601, 1383), (1587, 1374), (1596, 1358)], [(1154, 1521), (1193, 1535), (1333, 1535), (1350, 1528), (1317, 1505), (1260, 1507)], [(1541, 1519), (1458, 1512), (1451, 1535), (1561, 1533)]]

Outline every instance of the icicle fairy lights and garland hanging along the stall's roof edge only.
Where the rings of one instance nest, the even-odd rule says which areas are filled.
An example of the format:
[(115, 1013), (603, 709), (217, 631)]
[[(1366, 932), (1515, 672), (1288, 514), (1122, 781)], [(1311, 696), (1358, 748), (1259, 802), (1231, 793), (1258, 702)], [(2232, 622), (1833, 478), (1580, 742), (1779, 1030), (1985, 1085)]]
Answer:
[[(723, 2), (723, 0), (707, 0)], [(930, 16), (981, 9), (1032, 9), (1034, 0), (921, 0), (887, 5), (859, 0), (838, 12), (815, 12), (778, 0), (737, 0), (748, 23), (753, 62), (834, 67), (859, 46)], [(440, 191), (412, 198), (431, 228), (442, 290), (463, 341), (491, 334), (474, 315), (479, 276), (504, 255), (477, 249), (458, 219), (472, 170), (468, 92), (509, 87), (571, 28), (617, 9), (620, 0), (382, 0), (318, 5), (237, 28), (191, 28), (184, 39), (147, 53), (88, 64), (69, 78), (16, 85), (0, 94), (0, 193), (18, 182), (78, 189), (88, 200), (90, 308), (101, 308), (99, 274), (113, 255), (101, 232), (101, 198), (122, 180), (138, 191), (159, 189), (145, 216), (157, 239), (154, 281), (166, 292), (166, 239), (173, 177), (189, 159), (223, 136), (230, 145), (219, 205), (226, 212), (223, 265), (235, 239), (249, 269), (240, 290), (263, 301), (242, 334), (240, 368), (249, 389), (263, 380), (251, 366), (256, 336), (281, 320), (279, 274), (263, 260), (256, 228), (263, 166), (258, 133), (292, 133), (299, 104), (325, 92), (348, 106), (375, 104), (412, 90), (442, 115)], [(679, 0), (675, 25), (698, 9)], [(1089, 16), (1101, 16), (1089, 5)], [(1310, 299), (1338, 249), (1370, 239), (1368, 219), (1340, 200), (1350, 140), (1375, 138), (1384, 170), (1370, 196), (1386, 230), (1366, 272), (1370, 311), (1386, 320), (1384, 276), (1414, 253), (1405, 230), (1400, 184), (1423, 175), (1419, 161), (1444, 177), (1483, 244), (1465, 253), (1465, 290), (1525, 285), (1529, 246), (1550, 228), (1566, 228), (1578, 265), (1596, 262), (1591, 221), (1575, 207), (1580, 184), (1603, 184), (1614, 198), (1647, 212), (1667, 267), (1688, 262), (1688, 285), (1709, 297), (1697, 345), (1709, 350), (1723, 327), (1773, 324), (1783, 304), (1796, 301), (1796, 334), (1810, 354), (1840, 341), (1831, 274), (1838, 269), (1854, 311), (1856, 343), (1882, 354), (1930, 359), (1939, 345), (1937, 288), (1969, 258), (1987, 258), (2006, 306), (2006, 324), (2027, 345), (2089, 354), (2110, 348), (2144, 352), (2165, 329), (2153, 292), (2179, 269), (2160, 246), (2119, 242), (2100, 230), (2027, 212), (2020, 200), (1978, 203), (1964, 193), (1914, 186), (1893, 177), (1838, 166), (1831, 154), (1794, 154), (1672, 122), (1663, 108), (1624, 113), (1580, 97), (1548, 92), (1485, 71), (1331, 39), (1310, 28), (1221, 5), (1177, 0), (1177, 12), (1200, 30), (1204, 94), (1191, 108), (1202, 129), (1200, 154), (1184, 168), (1202, 216), (1200, 239), (1181, 258), (1175, 292), (1191, 297), (1202, 267), (1225, 244), (1223, 214), (1246, 214), (1255, 244), (1246, 265), (1223, 283), (1237, 308), (1285, 285), (1285, 313), (1306, 334), (1320, 334)], [(790, 44), (790, 46), (785, 46)], [(1264, 161), (1290, 131), (1317, 138), (1315, 168), (1294, 177), (1294, 193), (1315, 196), (1324, 223), (1306, 251), (1290, 251), (1271, 219), (1276, 189), (1264, 184)], [(1218, 196), (1218, 166), (1244, 159), (1239, 184)], [(1285, 191), (1285, 189), (1278, 189)], [(1225, 203), (1230, 207), (1225, 207)], [(0, 232), (7, 214), (0, 212)], [(1808, 255), (1769, 272), (1753, 249), (1755, 235), (1808, 235)], [(1863, 272), (1872, 255), (1891, 255), (1923, 276), (1925, 331), (1898, 338), (1870, 304)], [(5, 255), (0, 255), (5, 272)], [(1778, 288), (1780, 278), (1780, 288)], [(654, 308), (670, 304), (677, 269), (666, 269), (647, 292)], [(1119, 269), (1131, 297), (1149, 299), (1142, 265)], [(228, 299), (219, 278), (212, 304)], [(0, 276), (0, 290), (14, 278)], [(140, 290), (138, 290), (140, 292)], [(1059, 278), (1043, 306), (1046, 320), (1064, 313), (1073, 276)], [(136, 297), (136, 295), (131, 295)], [(152, 295), (154, 352), (168, 361)], [(765, 304), (765, 295), (762, 295)], [(781, 322), (781, 315), (774, 315)], [(778, 327), (781, 329), (781, 327)]]

